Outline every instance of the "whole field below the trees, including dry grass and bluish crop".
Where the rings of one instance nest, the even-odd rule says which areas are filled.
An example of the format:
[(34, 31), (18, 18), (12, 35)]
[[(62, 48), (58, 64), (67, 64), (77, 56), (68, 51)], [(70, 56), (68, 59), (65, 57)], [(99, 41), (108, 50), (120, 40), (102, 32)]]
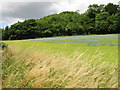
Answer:
[(118, 87), (117, 34), (3, 42), (3, 87)]

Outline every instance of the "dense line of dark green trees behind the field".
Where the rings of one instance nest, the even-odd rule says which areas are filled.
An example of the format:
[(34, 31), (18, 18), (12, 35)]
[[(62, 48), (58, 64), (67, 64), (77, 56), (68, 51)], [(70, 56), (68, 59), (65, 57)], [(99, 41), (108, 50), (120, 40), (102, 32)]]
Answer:
[(53, 36), (71, 36), (86, 34), (120, 33), (120, 7), (107, 5), (89, 5), (88, 10), (64, 11), (40, 19), (28, 19), (2, 29), (3, 40), (18, 40)]

